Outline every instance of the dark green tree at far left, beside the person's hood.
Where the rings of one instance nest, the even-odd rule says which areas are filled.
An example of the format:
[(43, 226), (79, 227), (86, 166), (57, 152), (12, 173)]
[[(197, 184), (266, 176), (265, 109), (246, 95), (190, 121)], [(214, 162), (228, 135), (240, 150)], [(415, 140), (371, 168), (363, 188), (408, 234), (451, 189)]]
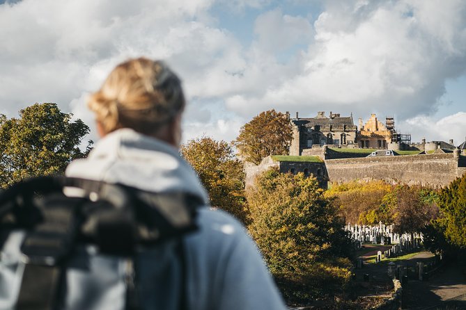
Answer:
[(0, 186), (29, 177), (60, 174), (75, 158), (86, 156), (79, 149), (89, 127), (56, 104), (33, 104), (20, 111), (20, 118), (0, 115)]

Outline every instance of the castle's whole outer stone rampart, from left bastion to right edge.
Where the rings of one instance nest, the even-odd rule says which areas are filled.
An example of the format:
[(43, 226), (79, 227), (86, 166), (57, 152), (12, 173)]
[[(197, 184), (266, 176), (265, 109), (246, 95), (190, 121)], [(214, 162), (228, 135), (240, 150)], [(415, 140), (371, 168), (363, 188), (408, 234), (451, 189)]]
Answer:
[(323, 163), (279, 162), (269, 156), (260, 165), (246, 165), (246, 184), (254, 184), (256, 175), (270, 167), (277, 167), (281, 172), (313, 174), (323, 188), (327, 187), (327, 181), (343, 183), (355, 179), (440, 188), (466, 173), (466, 157), (460, 156), (458, 149), (444, 154), (329, 159), (336, 156), (339, 153), (327, 147), (320, 148), (320, 157), (325, 158)]

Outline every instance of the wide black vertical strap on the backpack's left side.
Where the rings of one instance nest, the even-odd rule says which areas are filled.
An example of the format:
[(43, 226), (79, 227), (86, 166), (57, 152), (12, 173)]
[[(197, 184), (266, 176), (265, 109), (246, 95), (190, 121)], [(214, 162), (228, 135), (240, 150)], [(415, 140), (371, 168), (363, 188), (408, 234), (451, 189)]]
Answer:
[(42, 221), (29, 231), (21, 246), (24, 272), (17, 310), (54, 310), (59, 307), (63, 263), (72, 252), (77, 234), (76, 211), (82, 199), (63, 195), (45, 197)]

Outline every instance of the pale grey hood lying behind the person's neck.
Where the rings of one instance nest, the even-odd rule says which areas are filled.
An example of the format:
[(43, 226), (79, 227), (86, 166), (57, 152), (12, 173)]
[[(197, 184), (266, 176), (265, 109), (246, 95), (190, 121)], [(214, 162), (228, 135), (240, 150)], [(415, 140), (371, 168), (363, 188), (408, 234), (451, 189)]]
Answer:
[(70, 163), (66, 174), (156, 193), (183, 191), (199, 196), (205, 204), (209, 201), (199, 177), (178, 149), (132, 129), (118, 129), (104, 136), (88, 158)]

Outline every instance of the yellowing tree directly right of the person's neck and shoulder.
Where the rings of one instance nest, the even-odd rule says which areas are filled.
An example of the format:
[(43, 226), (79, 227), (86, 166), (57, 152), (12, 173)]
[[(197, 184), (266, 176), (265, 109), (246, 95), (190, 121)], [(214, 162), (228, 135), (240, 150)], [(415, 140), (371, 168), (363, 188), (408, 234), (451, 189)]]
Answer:
[(232, 213), (246, 224), (243, 166), (228, 143), (208, 137), (189, 140), (182, 145), (181, 154), (199, 175), (210, 204)]

